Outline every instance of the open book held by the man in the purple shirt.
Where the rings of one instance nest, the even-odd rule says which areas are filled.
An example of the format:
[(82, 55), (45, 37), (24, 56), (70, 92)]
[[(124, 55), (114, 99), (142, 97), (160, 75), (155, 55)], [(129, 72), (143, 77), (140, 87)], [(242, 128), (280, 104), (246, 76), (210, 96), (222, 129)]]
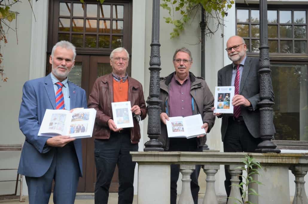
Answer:
[(169, 117), (166, 120), (168, 137), (186, 137), (192, 138), (199, 135), (205, 135), (205, 129), (202, 129), (203, 121), (201, 115), (186, 117)]

